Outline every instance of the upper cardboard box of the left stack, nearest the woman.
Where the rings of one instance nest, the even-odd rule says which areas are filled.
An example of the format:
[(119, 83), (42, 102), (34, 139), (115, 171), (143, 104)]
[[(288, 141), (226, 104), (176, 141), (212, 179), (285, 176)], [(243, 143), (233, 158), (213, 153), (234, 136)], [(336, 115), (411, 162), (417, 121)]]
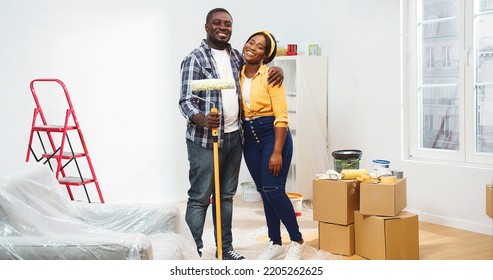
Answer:
[(354, 223), (359, 209), (359, 183), (356, 180), (313, 180), (313, 220), (339, 225)]

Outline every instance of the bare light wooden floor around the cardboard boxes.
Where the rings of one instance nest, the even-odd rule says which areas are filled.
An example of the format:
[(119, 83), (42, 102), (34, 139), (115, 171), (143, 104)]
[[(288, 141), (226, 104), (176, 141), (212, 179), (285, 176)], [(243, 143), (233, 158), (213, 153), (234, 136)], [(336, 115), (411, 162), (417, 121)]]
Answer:
[[(353, 255), (346, 260), (363, 260)], [(420, 260), (493, 260), (493, 236), (419, 222)]]

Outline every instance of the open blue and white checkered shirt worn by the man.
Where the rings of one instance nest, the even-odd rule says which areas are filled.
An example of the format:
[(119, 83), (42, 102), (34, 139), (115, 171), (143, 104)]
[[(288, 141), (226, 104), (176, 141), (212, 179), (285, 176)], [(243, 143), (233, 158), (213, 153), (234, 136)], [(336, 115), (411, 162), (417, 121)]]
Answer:
[[(241, 93), (240, 93), (240, 69), (243, 65), (243, 57), (241, 53), (228, 45), (226, 51), (230, 55), (231, 68), (233, 69), (233, 77), (236, 83), (236, 93), (238, 96), (238, 104), (241, 108)], [(212, 134), (210, 129), (196, 125), (192, 122), (192, 117), (198, 113), (207, 115), (214, 104), (217, 110), (223, 112), (221, 91), (206, 90), (193, 91), (191, 82), (193, 80), (202, 79), (218, 79), (219, 72), (216, 63), (212, 57), (211, 48), (207, 45), (206, 40), (203, 40), (199, 47), (195, 48), (187, 55), (181, 63), (181, 94), (179, 108), (183, 116), (188, 120), (186, 139), (189, 139), (204, 148), (212, 149)], [(192, 96), (199, 96), (209, 102), (204, 102)], [(213, 104), (211, 104), (212, 102)], [(238, 125), (241, 130), (241, 110), (239, 110)], [(219, 147), (222, 147), (224, 139), (224, 119), (221, 117), (221, 125), (219, 128)]]

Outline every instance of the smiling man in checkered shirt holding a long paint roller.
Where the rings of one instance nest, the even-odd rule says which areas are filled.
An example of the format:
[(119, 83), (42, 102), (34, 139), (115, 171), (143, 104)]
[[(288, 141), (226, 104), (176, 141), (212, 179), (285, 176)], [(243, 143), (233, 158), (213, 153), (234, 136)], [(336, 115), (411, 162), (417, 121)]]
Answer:
[[(201, 256), (201, 250), (204, 247), (202, 234), (206, 212), (210, 205), (211, 195), (214, 194), (214, 155), (211, 130), (219, 128), (222, 258), (223, 260), (241, 260), (244, 257), (233, 249), (231, 228), (233, 196), (238, 187), (242, 158), (239, 69), (243, 65), (243, 58), (241, 53), (229, 44), (233, 32), (233, 19), (227, 10), (216, 8), (209, 11), (205, 31), (207, 38), (201, 42), (199, 47), (192, 50), (181, 64), (182, 85), (179, 107), (187, 119), (186, 142), (190, 164), (190, 189), (188, 190), (185, 220)], [(219, 78), (234, 79), (235, 89), (193, 92), (191, 90), (193, 80)], [(282, 80), (282, 71), (274, 67), (269, 82), (279, 85)], [(218, 112), (211, 112), (213, 107), (217, 108)], [(212, 205), (215, 227), (215, 203)], [(216, 232), (216, 229), (214, 231)], [(217, 239), (216, 235), (215, 238)]]

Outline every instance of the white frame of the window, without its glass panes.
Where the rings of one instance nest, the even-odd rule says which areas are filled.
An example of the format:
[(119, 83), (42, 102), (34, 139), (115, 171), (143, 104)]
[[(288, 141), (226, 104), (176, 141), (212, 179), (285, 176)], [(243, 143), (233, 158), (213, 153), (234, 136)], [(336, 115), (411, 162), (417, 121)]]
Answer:
[[(479, 1), (478, 1), (479, 2)], [(466, 164), (468, 166), (484, 166), (493, 162), (493, 153), (479, 153), (476, 151), (477, 125), (476, 125), (476, 34), (474, 33), (475, 10), (470, 0), (459, 0), (459, 50), (458, 50), (458, 130), (459, 147), (457, 150), (433, 149), (422, 147), (422, 126), (430, 121), (423, 118), (422, 93), (419, 89), (423, 67), (429, 63), (429, 50), (423, 50), (422, 33), (419, 25), (421, 18), (421, 0), (402, 0), (402, 65), (403, 65), (403, 101), (407, 104), (403, 108), (404, 124), (408, 131), (403, 133), (404, 145), (407, 154), (404, 156), (411, 160), (443, 162), (448, 164)], [(445, 61), (434, 53), (435, 66), (442, 65)], [(448, 50), (451, 51), (450, 49)], [(423, 53), (421, 53), (423, 52)], [(427, 53), (424, 53), (427, 52)], [(443, 55), (443, 54), (442, 54)], [(450, 54), (449, 54), (450, 55)], [(426, 56), (426, 61), (422, 56)], [(449, 56), (450, 58), (450, 56)], [(452, 62), (449, 60), (449, 63)], [(453, 63), (453, 62), (452, 62)], [(453, 65), (453, 64), (452, 64)], [(441, 67), (441, 66), (440, 66)], [(444, 66), (446, 67), (446, 66)], [(406, 127), (406, 125), (404, 126)]]

